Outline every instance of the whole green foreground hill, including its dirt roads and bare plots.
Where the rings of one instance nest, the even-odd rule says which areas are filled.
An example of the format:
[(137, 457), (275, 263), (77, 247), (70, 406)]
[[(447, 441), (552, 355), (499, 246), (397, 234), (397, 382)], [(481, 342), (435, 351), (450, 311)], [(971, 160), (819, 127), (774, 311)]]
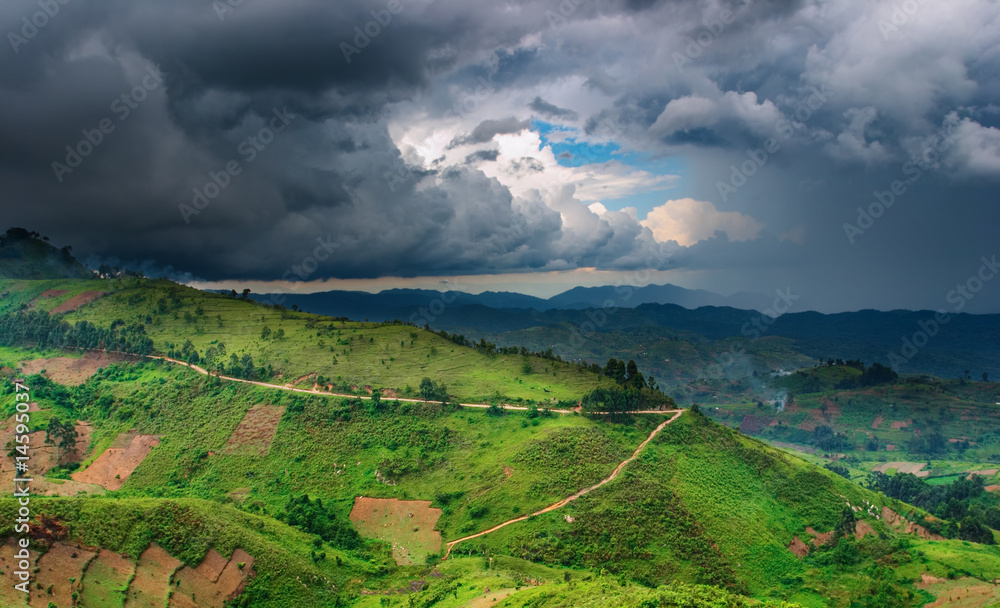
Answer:
[[(87, 438), (42, 448), (54, 466), (39, 487), (62, 496), (33, 502), (39, 553), (63, 539), (146, 572), (154, 544), (190, 568), (209, 549), (245, 551), (254, 575), (229, 605), (263, 607), (905, 607), (960, 584), (987, 597), (1000, 577), (996, 545), (926, 529), (960, 536), (965, 519), (927, 519), (701, 408), (616, 423), (547, 411), (614, 384), (582, 366), (168, 281), (8, 279), (0, 293), (0, 431), (12, 433), (20, 376), (38, 405), (31, 430)], [(56, 348), (79, 344), (251, 382)], [(784, 386), (796, 403), (857, 375), (817, 373), (817, 395)], [(407, 401), (424, 378), (450, 403)], [(14, 508), (0, 501), (0, 537)], [(441, 560), (445, 543), (500, 524)], [(85, 570), (69, 576), (86, 592)], [(143, 576), (101, 601), (116, 605)], [(160, 573), (179, 594), (185, 576)]]

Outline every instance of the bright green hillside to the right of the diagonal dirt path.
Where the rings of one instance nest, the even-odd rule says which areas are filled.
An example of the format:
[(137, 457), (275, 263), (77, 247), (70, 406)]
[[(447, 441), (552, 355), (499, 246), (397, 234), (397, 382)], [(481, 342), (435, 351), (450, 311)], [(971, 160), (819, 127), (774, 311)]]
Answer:
[(859, 520), (889, 532), (874, 516), (889, 503), (884, 497), (688, 413), (601, 492), (465, 550), (603, 567), (650, 585), (676, 579), (766, 595), (806, 575), (787, 548), (793, 536), (811, 538), (807, 527), (832, 531), (847, 502), (862, 507)]

